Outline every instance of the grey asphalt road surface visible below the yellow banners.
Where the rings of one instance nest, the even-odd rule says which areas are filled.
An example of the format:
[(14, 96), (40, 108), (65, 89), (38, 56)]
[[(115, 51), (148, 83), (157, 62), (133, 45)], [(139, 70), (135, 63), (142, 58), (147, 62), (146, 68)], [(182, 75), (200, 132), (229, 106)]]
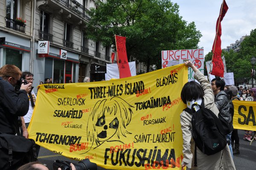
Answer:
[[(239, 130), (240, 138), (240, 154), (234, 155), (234, 163), (236, 170), (256, 170), (256, 141), (250, 142), (243, 140), (244, 130)], [(77, 163), (77, 161), (65, 158), (64, 156), (52, 153), (49, 150), (41, 147), (38, 161), (43, 164), (47, 164), (49, 170), (52, 170), (52, 164), (54, 160), (65, 160)], [(105, 170), (102, 167), (98, 167), (98, 170)]]

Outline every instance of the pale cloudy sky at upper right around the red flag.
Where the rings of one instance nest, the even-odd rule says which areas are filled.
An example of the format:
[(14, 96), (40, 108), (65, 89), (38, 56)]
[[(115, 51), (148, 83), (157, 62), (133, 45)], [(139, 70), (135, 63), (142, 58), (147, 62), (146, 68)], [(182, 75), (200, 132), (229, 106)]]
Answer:
[[(188, 23), (195, 22), (196, 29), (203, 35), (199, 47), (204, 55), (212, 50), (216, 35), (215, 26), (222, 0), (171, 0), (180, 7), (180, 16)], [(221, 22), (221, 49), (235, 43), (256, 29), (256, 0), (226, 0), (229, 9)]]

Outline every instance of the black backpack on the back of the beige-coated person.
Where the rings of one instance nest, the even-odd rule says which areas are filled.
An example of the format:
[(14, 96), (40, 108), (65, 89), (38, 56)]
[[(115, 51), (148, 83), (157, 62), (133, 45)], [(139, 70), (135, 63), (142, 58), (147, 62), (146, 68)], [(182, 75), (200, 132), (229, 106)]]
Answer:
[(184, 111), (192, 114), (192, 136), (195, 141), (195, 167), (197, 166), (196, 148), (198, 147), (204, 154), (213, 155), (223, 150), (227, 145), (226, 136), (223, 133), (223, 127), (218, 117), (202, 104), (192, 104), (200, 107), (198, 111), (186, 108)]

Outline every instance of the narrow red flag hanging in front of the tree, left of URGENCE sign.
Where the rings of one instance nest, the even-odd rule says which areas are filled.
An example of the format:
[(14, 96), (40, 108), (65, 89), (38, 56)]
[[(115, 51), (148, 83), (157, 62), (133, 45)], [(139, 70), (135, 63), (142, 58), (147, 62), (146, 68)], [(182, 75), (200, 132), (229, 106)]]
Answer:
[(131, 77), (131, 71), (126, 54), (126, 37), (115, 35), (117, 65), (119, 69), (119, 78)]

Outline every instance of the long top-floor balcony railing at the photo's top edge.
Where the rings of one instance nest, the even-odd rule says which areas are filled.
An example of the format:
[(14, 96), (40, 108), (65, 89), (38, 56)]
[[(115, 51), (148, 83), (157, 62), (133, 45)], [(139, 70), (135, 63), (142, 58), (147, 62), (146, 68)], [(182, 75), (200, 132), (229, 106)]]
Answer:
[(84, 6), (82, 6), (76, 0), (56, 0), (56, 1), (63, 4), (67, 8), (71, 9), (76, 14), (86, 18), (87, 20), (90, 20), (90, 17), (89, 17), (89, 14), (88, 14), (89, 10), (86, 9)]

